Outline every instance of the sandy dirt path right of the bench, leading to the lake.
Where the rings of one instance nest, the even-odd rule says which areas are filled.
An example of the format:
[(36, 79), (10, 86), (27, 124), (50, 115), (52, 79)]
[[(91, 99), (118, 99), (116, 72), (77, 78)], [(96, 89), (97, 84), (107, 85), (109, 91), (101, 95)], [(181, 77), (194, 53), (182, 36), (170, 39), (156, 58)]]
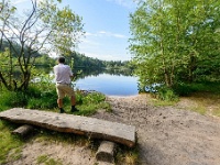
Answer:
[(142, 165), (220, 165), (220, 120), (175, 107), (148, 106), (146, 96), (110, 97), (112, 113), (95, 117), (135, 125)]

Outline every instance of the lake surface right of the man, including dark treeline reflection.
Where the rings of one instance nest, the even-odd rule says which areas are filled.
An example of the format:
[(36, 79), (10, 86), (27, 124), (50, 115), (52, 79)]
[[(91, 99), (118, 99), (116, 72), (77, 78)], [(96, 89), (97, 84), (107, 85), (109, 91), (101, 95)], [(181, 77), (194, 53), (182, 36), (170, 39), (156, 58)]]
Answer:
[(138, 78), (130, 69), (79, 69), (76, 88), (97, 90), (107, 96), (131, 96), (139, 94)]

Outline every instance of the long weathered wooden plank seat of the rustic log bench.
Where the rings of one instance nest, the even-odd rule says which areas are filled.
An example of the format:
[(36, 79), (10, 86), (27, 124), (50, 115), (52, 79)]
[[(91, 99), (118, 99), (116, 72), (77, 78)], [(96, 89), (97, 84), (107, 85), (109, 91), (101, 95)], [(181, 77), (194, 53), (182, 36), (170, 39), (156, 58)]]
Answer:
[(130, 147), (133, 147), (135, 144), (135, 127), (96, 118), (13, 108), (0, 112), (0, 119), (46, 128), (58, 132), (109, 140)]

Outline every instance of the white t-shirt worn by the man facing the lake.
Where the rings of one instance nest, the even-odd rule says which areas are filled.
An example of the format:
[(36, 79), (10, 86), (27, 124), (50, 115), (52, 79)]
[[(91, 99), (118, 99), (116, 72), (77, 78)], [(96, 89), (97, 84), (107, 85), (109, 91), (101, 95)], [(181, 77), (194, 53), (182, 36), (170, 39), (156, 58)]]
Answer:
[(54, 66), (55, 80), (57, 84), (70, 84), (73, 72), (68, 65), (58, 64)]

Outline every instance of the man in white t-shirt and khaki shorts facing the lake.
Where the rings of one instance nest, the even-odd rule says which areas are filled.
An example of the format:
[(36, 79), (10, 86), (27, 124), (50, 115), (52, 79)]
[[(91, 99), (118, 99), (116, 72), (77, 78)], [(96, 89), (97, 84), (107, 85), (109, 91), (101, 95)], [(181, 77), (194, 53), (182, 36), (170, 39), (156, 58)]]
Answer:
[(75, 91), (70, 86), (72, 78), (74, 77), (73, 72), (68, 65), (64, 65), (65, 57), (58, 57), (58, 64), (54, 66), (54, 74), (56, 80), (56, 92), (58, 95), (57, 105), (59, 112), (65, 112), (63, 109), (63, 99), (67, 95), (70, 97), (72, 101), (72, 112), (78, 111), (75, 107), (76, 97)]

